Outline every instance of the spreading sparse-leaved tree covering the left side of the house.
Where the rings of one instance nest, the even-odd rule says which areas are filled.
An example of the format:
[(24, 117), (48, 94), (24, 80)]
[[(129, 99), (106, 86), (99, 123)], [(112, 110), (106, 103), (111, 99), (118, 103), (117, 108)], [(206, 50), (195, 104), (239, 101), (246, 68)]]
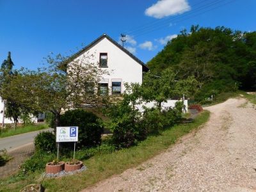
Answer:
[[(55, 125), (59, 125), (60, 113), (64, 109), (102, 102), (102, 97), (88, 91), (88, 82), (94, 89), (102, 74), (106, 73), (97, 67), (97, 63), (91, 62), (92, 57), (84, 55), (68, 61), (68, 57), (60, 54), (48, 56), (45, 68), (36, 71), (21, 68), (17, 76), (9, 79), (10, 83), (2, 84), (1, 95), (34, 113), (51, 111)], [(67, 61), (67, 70), (62, 70), (60, 65)]]

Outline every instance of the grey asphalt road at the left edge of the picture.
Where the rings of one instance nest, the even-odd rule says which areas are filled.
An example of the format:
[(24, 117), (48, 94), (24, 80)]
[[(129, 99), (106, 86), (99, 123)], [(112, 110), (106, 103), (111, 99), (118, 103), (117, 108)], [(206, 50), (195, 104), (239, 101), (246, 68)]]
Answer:
[(42, 129), (40, 131), (26, 132), (23, 134), (17, 134), (8, 138), (0, 139), (0, 150), (6, 149), (8, 152), (11, 150), (24, 147), (33, 143), (35, 136), (42, 131), (50, 131), (51, 129)]

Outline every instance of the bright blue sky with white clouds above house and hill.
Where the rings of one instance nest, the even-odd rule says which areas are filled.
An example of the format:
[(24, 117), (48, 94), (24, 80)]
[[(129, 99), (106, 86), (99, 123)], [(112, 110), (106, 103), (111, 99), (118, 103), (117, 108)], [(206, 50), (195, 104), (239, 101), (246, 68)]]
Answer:
[(255, 18), (255, 0), (0, 0), (0, 62), (11, 51), (15, 68), (35, 69), (49, 52), (125, 33), (125, 47), (147, 63), (192, 24), (255, 31)]

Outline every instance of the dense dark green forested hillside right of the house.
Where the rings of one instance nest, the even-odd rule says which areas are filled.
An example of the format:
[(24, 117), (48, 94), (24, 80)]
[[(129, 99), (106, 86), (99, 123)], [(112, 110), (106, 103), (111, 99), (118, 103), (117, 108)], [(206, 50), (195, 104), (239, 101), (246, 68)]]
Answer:
[(191, 26), (147, 64), (154, 74), (172, 67), (178, 80), (195, 76), (202, 83), (196, 100), (237, 88), (256, 90), (256, 31)]

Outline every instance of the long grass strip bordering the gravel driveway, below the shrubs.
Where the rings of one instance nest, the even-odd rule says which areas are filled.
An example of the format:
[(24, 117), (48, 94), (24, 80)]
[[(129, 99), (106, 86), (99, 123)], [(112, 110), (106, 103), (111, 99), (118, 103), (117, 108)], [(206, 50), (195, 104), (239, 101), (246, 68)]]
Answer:
[(163, 131), (158, 136), (149, 136), (147, 140), (141, 141), (131, 148), (124, 148), (111, 152), (110, 154), (95, 154), (89, 159), (81, 159), (88, 167), (83, 173), (58, 179), (45, 179), (40, 173), (32, 173), (22, 177), (9, 177), (0, 180), (0, 191), (19, 191), (28, 184), (40, 183), (47, 191), (79, 191), (92, 186), (100, 180), (111, 175), (119, 174), (138, 166), (157, 154), (164, 152), (184, 134), (188, 134), (193, 129), (198, 129), (209, 119), (209, 111), (204, 111), (198, 115), (195, 122), (191, 124), (180, 124)]

